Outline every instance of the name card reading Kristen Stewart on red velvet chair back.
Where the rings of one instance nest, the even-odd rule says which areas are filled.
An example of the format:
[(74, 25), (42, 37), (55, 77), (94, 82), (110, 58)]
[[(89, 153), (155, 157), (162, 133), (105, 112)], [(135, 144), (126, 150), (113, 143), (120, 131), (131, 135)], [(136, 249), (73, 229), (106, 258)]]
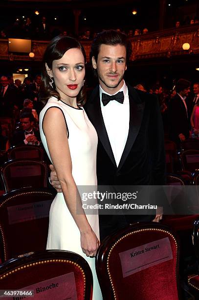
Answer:
[(163, 238), (119, 253), (123, 277), (173, 259), (169, 238)]

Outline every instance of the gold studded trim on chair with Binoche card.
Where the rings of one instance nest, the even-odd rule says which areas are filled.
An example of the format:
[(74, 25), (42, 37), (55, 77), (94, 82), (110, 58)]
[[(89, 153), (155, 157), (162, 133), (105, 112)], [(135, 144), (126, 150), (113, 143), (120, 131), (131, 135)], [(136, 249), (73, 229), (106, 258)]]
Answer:
[(68, 259), (46, 259), (46, 260), (42, 260), (42, 261), (37, 261), (34, 263), (29, 263), (27, 265), (23, 265), (21, 267), (18, 267), (12, 271), (9, 271), (8, 273), (4, 273), (3, 275), (0, 276), (0, 280), (4, 279), (5, 277), (12, 275), (13, 273), (16, 273), (18, 271), (22, 271), (25, 268), (31, 268), (34, 267), (36, 265), (41, 265), (41, 264), (48, 264), (48, 263), (69, 263), (72, 265), (75, 265), (76, 267), (79, 268), (79, 270), (82, 272), (83, 278), (84, 278), (84, 297), (85, 297), (85, 291), (86, 291), (86, 275), (84, 270), (82, 269), (82, 267), (80, 265), (78, 265), (76, 262), (68, 260)]

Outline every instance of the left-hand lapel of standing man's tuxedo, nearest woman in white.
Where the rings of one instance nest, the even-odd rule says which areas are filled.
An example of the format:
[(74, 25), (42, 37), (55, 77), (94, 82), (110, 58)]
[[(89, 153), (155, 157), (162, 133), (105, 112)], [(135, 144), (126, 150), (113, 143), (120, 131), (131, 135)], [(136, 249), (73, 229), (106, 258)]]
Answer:
[(88, 114), (88, 118), (91, 121), (92, 125), (97, 131), (99, 140), (101, 141), (104, 149), (109, 155), (113, 165), (116, 167), (115, 158), (112, 152), (111, 144), (107, 134), (106, 126), (104, 124), (104, 119), (102, 116), (101, 105), (100, 105), (100, 96), (99, 96), (99, 86), (95, 88), (91, 95), (91, 99), (85, 107)]

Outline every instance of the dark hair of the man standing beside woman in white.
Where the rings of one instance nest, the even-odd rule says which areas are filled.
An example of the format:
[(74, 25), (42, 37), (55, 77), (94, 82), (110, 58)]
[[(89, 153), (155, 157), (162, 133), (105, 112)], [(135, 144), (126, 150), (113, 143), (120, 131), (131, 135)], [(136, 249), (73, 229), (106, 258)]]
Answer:
[[(92, 57), (94, 56), (95, 61), (97, 62), (97, 57), (99, 54), (100, 46), (104, 45), (110, 45), (110, 46), (116, 46), (121, 45), (125, 46), (126, 48), (126, 62), (128, 63), (132, 54), (132, 44), (130, 40), (128, 40), (127, 35), (125, 33), (122, 33), (120, 31), (116, 31), (113, 29), (105, 30), (97, 34), (97, 36), (94, 38), (91, 48), (90, 48), (90, 62), (92, 62)], [(96, 71), (96, 70), (93, 70)]]

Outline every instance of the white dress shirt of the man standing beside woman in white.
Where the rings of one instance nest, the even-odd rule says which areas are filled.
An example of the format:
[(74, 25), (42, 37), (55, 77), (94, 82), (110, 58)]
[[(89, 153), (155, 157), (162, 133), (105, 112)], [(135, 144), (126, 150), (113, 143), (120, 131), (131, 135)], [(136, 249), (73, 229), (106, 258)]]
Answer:
[(117, 167), (119, 165), (122, 153), (127, 142), (130, 119), (129, 94), (125, 82), (118, 92), (124, 93), (123, 104), (115, 100), (111, 100), (106, 106), (104, 106), (102, 103), (102, 93), (108, 93), (106, 93), (100, 86), (100, 104), (102, 116), (104, 119), (104, 124), (106, 126), (107, 134), (111, 143), (111, 148)]

